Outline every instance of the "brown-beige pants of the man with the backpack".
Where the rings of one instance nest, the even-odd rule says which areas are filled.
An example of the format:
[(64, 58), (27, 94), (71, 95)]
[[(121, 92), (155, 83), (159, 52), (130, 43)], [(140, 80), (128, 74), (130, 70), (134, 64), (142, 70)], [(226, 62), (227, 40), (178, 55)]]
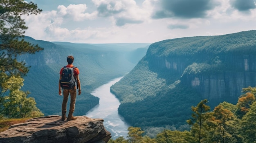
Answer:
[(75, 110), (75, 103), (76, 103), (76, 87), (70, 90), (64, 89), (63, 90), (63, 102), (62, 102), (62, 111), (67, 111), (67, 100), (68, 95), (70, 94), (70, 111), (74, 112)]

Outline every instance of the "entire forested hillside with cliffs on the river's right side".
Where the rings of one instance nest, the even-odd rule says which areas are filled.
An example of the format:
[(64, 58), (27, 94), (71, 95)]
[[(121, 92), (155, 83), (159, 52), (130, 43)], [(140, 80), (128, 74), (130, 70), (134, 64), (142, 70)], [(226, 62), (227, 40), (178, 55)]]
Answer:
[(211, 109), (236, 104), (242, 88), (256, 85), (255, 65), (256, 31), (164, 40), (151, 44), (111, 92), (131, 125), (185, 130), (191, 106), (201, 100)]

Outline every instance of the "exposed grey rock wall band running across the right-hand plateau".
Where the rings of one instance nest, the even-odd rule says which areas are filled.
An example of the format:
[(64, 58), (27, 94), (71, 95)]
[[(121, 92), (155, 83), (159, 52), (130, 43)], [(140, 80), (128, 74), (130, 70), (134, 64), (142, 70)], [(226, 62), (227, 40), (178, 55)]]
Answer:
[[(207, 55), (204, 55), (207, 57)], [(256, 55), (227, 54), (220, 60), (229, 66), (229, 69), (220, 69), (218, 72), (201, 72), (197, 74), (184, 73), (195, 57), (150, 57), (151, 67), (167, 69), (178, 73), (181, 84), (195, 88), (202, 99), (213, 101), (228, 101), (236, 103), (242, 94), (242, 88), (256, 86)]]

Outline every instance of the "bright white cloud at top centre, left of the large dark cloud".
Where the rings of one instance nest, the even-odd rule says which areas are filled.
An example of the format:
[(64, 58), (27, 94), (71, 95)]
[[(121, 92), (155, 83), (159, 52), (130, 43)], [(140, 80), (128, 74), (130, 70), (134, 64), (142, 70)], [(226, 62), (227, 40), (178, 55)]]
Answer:
[(92, 0), (99, 17), (110, 17), (116, 26), (139, 24), (150, 18), (151, 1), (144, 0), (139, 7), (135, 0)]

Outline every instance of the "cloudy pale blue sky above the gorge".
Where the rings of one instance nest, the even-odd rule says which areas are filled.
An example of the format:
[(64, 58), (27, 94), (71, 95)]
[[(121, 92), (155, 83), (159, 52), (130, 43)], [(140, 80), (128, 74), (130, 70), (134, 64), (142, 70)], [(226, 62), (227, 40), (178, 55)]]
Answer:
[[(154, 43), (256, 29), (256, 0), (31, 0), (25, 35), (73, 43)], [(27, 1), (30, 2), (30, 1)]]

